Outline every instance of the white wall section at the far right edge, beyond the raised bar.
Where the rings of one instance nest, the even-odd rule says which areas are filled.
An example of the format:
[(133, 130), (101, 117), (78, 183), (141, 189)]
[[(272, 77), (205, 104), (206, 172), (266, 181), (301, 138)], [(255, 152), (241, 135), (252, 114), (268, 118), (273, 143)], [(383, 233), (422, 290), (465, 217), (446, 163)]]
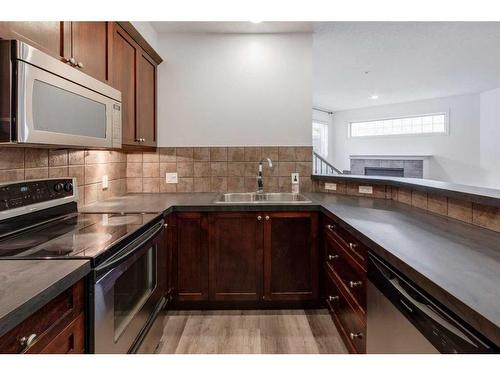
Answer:
[(500, 88), (481, 93), (480, 100), (482, 181), (484, 186), (500, 189)]

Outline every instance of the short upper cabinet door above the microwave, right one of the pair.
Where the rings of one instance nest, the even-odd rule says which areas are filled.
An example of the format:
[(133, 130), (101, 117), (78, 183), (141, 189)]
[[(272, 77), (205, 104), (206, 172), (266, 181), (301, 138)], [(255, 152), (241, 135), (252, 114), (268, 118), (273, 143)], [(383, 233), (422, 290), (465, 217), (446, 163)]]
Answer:
[(108, 80), (108, 22), (71, 22), (71, 52), (81, 71)]

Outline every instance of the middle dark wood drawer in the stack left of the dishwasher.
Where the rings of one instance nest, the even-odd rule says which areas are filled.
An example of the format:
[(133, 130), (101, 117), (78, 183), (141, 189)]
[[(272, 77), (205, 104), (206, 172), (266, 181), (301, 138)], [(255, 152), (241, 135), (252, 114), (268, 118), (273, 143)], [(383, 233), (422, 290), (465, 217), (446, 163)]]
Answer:
[(346, 292), (366, 311), (366, 271), (352, 259), (342, 247), (329, 239), (325, 240), (325, 262), (327, 268), (333, 270), (338, 281)]

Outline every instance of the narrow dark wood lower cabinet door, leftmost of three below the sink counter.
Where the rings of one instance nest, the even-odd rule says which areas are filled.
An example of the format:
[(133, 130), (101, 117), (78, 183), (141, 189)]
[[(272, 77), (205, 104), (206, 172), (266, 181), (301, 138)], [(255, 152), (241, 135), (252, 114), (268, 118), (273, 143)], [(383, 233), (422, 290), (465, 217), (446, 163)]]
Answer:
[(178, 300), (208, 300), (207, 217), (200, 213), (177, 213), (176, 227)]

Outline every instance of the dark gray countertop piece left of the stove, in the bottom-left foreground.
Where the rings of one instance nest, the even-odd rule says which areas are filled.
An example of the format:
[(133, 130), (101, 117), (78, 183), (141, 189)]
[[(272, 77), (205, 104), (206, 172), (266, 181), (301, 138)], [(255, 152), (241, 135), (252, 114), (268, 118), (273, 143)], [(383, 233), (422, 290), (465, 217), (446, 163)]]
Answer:
[(88, 260), (0, 260), (0, 336), (89, 272)]

